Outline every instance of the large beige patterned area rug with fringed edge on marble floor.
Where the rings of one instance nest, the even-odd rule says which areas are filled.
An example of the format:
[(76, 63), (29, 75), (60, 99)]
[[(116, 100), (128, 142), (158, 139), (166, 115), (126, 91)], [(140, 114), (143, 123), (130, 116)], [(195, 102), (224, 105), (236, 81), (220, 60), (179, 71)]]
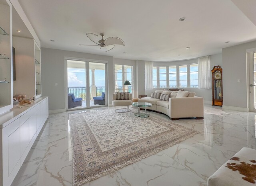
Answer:
[(171, 147), (197, 131), (150, 113), (149, 117), (113, 109), (70, 115), (73, 184), (114, 172)]

